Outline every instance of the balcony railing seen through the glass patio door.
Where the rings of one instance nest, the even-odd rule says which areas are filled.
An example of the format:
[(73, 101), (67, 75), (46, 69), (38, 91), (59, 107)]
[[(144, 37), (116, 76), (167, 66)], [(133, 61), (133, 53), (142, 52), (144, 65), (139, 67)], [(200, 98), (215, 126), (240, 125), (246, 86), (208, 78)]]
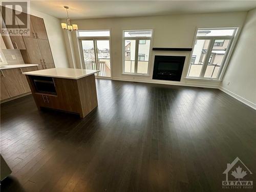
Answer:
[(83, 63), (83, 69), (88, 70), (100, 70), (99, 73), (96, 73), (96, 76), (103, 76), (103, 77), (110, 77), (111, 70), (110, 70), (110, 59), (100, 59), (106, 61), (98, 61), (96, 64), (95, 61), (85, 61)]

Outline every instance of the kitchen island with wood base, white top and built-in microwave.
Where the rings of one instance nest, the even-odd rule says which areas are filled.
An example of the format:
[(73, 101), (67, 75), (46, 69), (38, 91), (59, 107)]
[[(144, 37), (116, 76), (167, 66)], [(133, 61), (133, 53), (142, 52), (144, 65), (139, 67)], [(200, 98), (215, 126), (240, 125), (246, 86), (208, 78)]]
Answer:
[(50, 108), (86, 117), (98, 106), (97, 70), (53, 68), (26, 75), (38, 109)]

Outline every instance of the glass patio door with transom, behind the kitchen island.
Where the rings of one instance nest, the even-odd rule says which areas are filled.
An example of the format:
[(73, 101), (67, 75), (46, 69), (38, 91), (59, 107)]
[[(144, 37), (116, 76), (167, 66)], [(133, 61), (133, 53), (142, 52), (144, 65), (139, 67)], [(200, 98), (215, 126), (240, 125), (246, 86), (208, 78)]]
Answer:
[(110, 30), (77, 31), (82, 69), (100, 70), (96, 76), (111, 77)]

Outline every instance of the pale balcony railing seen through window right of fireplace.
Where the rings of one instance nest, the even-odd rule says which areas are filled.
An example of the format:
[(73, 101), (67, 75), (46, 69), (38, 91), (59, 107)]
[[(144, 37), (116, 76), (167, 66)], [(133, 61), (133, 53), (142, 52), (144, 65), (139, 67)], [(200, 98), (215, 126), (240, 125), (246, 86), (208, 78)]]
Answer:
[[(191, 63), (188, 71), (188, 76), (190, 77), (199, 77), (201, 70), (202, 70), (203, 64), (201, 63)], [(209, 64), (207, 65), (204, 77), (207, 78), (217, 78), (219, 70), (220, 70), (219, 65), (215, 64)]]

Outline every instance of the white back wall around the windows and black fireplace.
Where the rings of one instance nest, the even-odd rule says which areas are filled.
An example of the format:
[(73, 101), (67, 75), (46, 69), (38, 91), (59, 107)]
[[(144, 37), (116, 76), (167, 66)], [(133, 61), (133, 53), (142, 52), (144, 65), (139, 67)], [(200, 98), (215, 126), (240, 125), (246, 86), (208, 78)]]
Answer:
[[(196, 28), (242, 27), (247, 12), (184, 14), (147, 17), (102, 18), (72, 20), (79, 30), (111, 30), (112, 77), (119, 80), (144, 81), (166, 84), (185, 84), (187, 86), (215, 87), (220, 82), (184, 79), (188, 69), (190, 52), (153, 51), (150, 62), (150, 76), (131, 76), (122, 74), (122, 31), (129, 29), (153, 29), (153, 47), (191, 48)], [(240, 31), (239, 31), (240, 32)], [(79, 51), (76, 35), (72, 32), (76, 68), (80, 68)], [(67, 49), (70, 49), (67, 47)], [(153, 63), (155, 55), (186, 56), (181, 82), (153, 80)]]

